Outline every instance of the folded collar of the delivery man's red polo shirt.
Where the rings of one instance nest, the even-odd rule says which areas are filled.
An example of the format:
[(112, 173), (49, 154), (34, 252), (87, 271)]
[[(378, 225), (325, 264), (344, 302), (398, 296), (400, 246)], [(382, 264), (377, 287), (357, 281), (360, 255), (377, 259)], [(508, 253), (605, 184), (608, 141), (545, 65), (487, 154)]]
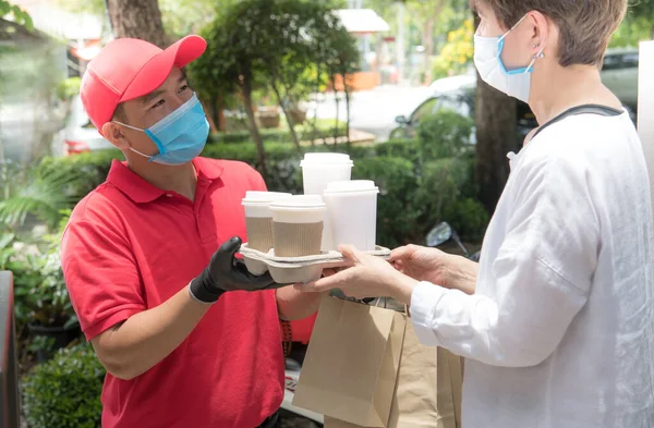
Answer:
[[(222, 167), (217, 166), (209, 159), (195, 158), (193, 166), (197, 171), (197, 181), (214, 181), (222, 174)], [(113, 184), (118, 189), (128, 195), (137, 204), (152, 203), (166, 193), (165, 189), (155, 186), (132, 171), (126, 162), (114, 159), (107, 176), (107, 182)]]

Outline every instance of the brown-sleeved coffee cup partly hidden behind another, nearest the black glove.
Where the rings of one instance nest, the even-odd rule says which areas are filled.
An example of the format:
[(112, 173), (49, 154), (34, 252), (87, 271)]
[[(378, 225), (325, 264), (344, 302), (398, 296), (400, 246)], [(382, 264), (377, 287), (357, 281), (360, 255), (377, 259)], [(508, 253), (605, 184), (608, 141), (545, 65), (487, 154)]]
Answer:
[(247, 192), (242, 201), (245, 210), (247, 246), (267, 253), (272, 248), (272, 211), (270, 204), (291, 197), (290, 193)]

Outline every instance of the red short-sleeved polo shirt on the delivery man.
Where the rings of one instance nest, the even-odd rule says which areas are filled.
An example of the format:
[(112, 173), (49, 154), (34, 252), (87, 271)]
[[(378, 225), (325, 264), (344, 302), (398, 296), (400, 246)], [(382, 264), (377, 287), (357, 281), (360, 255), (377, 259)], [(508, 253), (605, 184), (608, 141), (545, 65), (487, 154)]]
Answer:
[[(113, 161), (74, 209), (61, 258), (88, 340), (178, 293), (231, 236), (245, 240), (241, 199), (265, 189), (245, 163), (197, 158), (194, 201)], [(253, 428), (283, 398), (274, 291), (227, 293), (167, 358), (133, 380), (107, 375), (104, 428)]]

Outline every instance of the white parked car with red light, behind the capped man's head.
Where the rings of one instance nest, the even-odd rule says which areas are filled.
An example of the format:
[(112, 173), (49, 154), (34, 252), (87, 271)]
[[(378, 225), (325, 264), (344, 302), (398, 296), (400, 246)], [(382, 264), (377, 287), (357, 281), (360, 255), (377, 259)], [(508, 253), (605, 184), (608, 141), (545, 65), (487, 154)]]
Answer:
[(55, 135), (52, 154), (70, 156), (84, 151), (105, 150), (113, 145), (100, 135), (84, 111), (82, 98), (74, 97), (63, 130)]

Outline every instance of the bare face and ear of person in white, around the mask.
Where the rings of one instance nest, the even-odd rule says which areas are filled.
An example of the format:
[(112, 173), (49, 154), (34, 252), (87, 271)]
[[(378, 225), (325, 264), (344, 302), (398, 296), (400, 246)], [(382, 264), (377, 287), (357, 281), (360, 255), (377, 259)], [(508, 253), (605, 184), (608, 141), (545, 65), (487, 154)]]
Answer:
[[(499, 23), (493, 9), (483, 0), (476, 2), (477, 14), (480, 15), (480, 25), (476, 35), (482, 37), (500, 37), (509, 32)], [(533, 56), (533, 45), (536, 37), (536, 20), (531, 13), (526, 15), (510, 33), (505, 37), (501, 60), (508, 70), (526, 66)]]

